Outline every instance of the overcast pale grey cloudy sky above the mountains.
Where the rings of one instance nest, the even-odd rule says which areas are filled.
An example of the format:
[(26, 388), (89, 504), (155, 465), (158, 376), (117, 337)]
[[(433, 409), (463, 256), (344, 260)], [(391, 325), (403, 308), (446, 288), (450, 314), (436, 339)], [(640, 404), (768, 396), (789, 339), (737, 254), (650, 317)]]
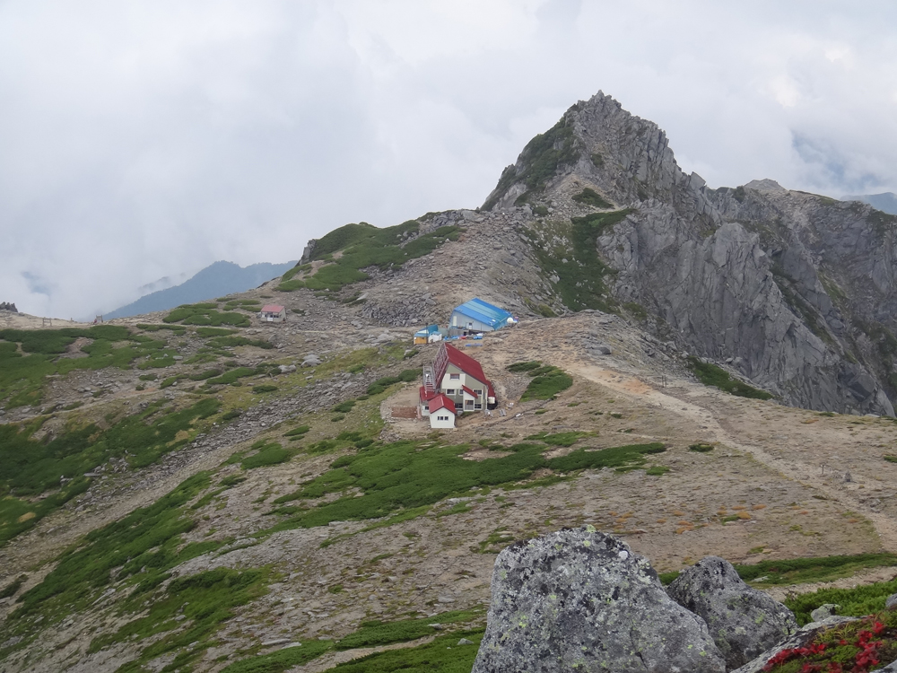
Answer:
[(0, 0), (0, 302), (475, 207), (602, 90), (711, 187), (897, 191), (897, 4)]

